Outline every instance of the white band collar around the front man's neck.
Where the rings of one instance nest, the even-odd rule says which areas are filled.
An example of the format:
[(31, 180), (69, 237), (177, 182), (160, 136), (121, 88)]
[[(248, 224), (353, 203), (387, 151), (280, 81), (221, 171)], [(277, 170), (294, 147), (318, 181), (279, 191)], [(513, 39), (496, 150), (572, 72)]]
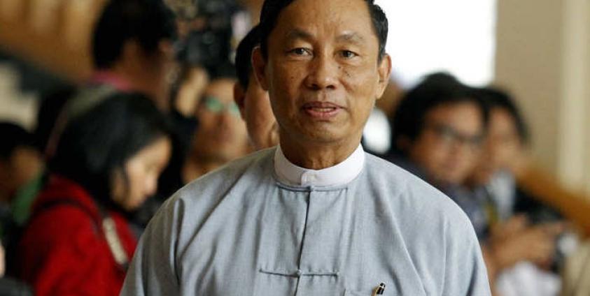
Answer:
[(279, 182), (291, 186), (338, 186), (351, 182), (365, 165), (365, 151), (360, 144), (344, 161), (330, 168), (309, 170), (291, 163), (283, 154), (281, 145), (274, 152), (274, 172)]

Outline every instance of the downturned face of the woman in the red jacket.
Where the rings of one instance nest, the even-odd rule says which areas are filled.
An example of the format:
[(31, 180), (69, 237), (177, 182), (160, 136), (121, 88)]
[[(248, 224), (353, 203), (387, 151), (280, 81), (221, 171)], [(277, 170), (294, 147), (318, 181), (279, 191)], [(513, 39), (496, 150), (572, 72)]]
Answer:
[(157, 190), (157, 179), (167, 165), (172, 146), (169, 138), (159, 138), (143, 147), (125, 163), (127, 180), (120, 172), (113, 175), (113, 200), (131, 212)]

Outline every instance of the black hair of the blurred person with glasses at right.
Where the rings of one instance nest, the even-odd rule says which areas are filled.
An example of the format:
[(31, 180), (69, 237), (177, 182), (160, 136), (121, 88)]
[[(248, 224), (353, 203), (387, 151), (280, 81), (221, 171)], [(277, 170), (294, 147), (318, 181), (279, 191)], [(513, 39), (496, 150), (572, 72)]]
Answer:
[(487, 128), (489, 108), (480, 96), (479, 89), (468, 87), (448, 73), (433, 73), (426, 76), (416, 87), (410, 89), (400, 100), (390, 119), (392, 152), (404, 154), (398, 147), (399, 140), (413, 141), (421, 135), (426, 115), (430, 110), (445, 105), (472, 102), (479, 106), (482, 123)]

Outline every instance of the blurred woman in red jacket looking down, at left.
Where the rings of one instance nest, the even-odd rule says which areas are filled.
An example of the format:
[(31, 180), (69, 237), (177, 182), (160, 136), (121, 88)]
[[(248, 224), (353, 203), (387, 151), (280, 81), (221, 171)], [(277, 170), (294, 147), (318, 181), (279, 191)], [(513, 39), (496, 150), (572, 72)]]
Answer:
[(136, 237), (127, 214), (157, 187), (167, 121), (145, 96), (115, 94), (69, 121), (20, 241), (36, 295), (118, 295)]

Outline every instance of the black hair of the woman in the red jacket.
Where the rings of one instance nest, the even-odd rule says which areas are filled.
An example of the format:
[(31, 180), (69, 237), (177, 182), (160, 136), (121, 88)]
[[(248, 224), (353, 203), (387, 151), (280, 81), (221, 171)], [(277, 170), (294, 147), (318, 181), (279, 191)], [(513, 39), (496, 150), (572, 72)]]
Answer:
[(69, 121), (50, 159), (50, 171), (83, 186), (111, 205), (113, 172), (144, 147), (169, 137), (167, 118), (143, 94), (113, 94)]

